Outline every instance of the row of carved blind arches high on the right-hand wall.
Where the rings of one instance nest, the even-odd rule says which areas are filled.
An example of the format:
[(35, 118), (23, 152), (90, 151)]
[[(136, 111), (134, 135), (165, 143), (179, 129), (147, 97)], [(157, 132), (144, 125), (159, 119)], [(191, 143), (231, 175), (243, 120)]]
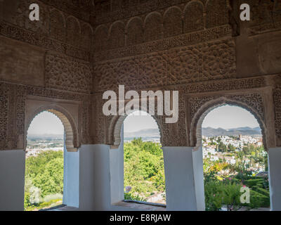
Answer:
[[(124, 6), (123, 3), (122, 6)], [(124, 7), (126, 8), (126, 6)], [(218, 10), (216, 7), (221, 8)], [(126, 24), (126, 29), (124, 31), (128, 39), (126, 46), (161, 40), (162, 35), (164, 35), (164, 38), (177, 37), (179, 34), (187, 34), (206, 28), (228, 25), (228, 9), (225, 0), (208, 1), (207, 5), (202, 1), (190, 1), (185, 4), (184, 8), (183, 6), (181, 8), (178, 6), (171, 6), (161, 11), (147, 13), (141, 17), (132, 16), (129, 20), (127, 19), (128, 16), (124, 15), (124, 18), (116, 18), (114, 23), (118, 21), (124, 25)], [(206, 10), (207, 16), (204, 16), (204, 11)], [(100, 31), (98, 31), (98, 29), (100, 29), (100, 26), (106, 25), (112, 27), (114, 23), (100, 24), (96, 28), (96, 34), (98, 35), (95, 37), (96, 41), (100, 42), (105, 38), (103, 35), (100, 36), (99, 34)], [(207, 26), (205, 25), (206, 23)], [(107, 28), (105, 28), (105, 30), (107, 30)], [(111, 43), (114, 41), (112, 40), (114, 38), (115, 36), (110, 36), (109, 42)], [(105, 49), (100, 48), (96, 49), (96, 51), (117, 47), (116, 45), (105, 45)]]

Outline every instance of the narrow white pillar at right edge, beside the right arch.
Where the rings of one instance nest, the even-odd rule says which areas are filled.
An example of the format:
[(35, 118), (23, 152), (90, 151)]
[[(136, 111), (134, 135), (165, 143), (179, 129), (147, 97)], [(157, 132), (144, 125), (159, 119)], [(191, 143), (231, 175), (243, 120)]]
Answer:
[(281, 210), (281, 148), (268, 149), (270, 210)]

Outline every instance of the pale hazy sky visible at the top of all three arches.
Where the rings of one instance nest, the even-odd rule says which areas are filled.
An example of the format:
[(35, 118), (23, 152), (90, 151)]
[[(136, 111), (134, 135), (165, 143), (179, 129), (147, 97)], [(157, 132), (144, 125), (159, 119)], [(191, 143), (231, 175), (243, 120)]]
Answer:
[[(141, 129), (157, 129), (157, 123), (147, 113), (139, 111), (132, 113), (124, 121), (124, 131), (134, 132)], [(202, 127), (259, 127), (253, 115), (237, 106), (225, 105), (212, 110), (204, 119)], [(63, 124), (52, 113), (44, 112), (34, 118), (28, 134), (63, 134)]]

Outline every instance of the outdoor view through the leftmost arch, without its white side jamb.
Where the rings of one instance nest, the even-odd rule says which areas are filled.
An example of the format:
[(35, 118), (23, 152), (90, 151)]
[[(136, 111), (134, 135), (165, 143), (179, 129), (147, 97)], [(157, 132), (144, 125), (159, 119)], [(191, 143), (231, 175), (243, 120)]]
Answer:
[(34, 117), (27, 131), (25, 160), (25, 210), (63, 205), (63, 123), (44, 111)]

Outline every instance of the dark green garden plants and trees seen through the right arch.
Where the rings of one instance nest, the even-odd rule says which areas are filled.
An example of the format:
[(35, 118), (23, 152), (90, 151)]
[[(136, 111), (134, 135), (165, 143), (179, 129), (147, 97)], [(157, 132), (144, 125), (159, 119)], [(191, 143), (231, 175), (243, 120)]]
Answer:
[[(263, 147), (247, 146), (241, 152), (233, 153), (235, 165), (226, 160), (211, 161), (204, 158), (204, 191), (207, 211), (239, 210), (241, 207), (270, 207), (270, 194), (267, 177), (256, 177), (250, 162), (259, 163), (267, 169), (267, 155)], [(242, 187), (250, 188), (249, 203), (242, 204)]]

